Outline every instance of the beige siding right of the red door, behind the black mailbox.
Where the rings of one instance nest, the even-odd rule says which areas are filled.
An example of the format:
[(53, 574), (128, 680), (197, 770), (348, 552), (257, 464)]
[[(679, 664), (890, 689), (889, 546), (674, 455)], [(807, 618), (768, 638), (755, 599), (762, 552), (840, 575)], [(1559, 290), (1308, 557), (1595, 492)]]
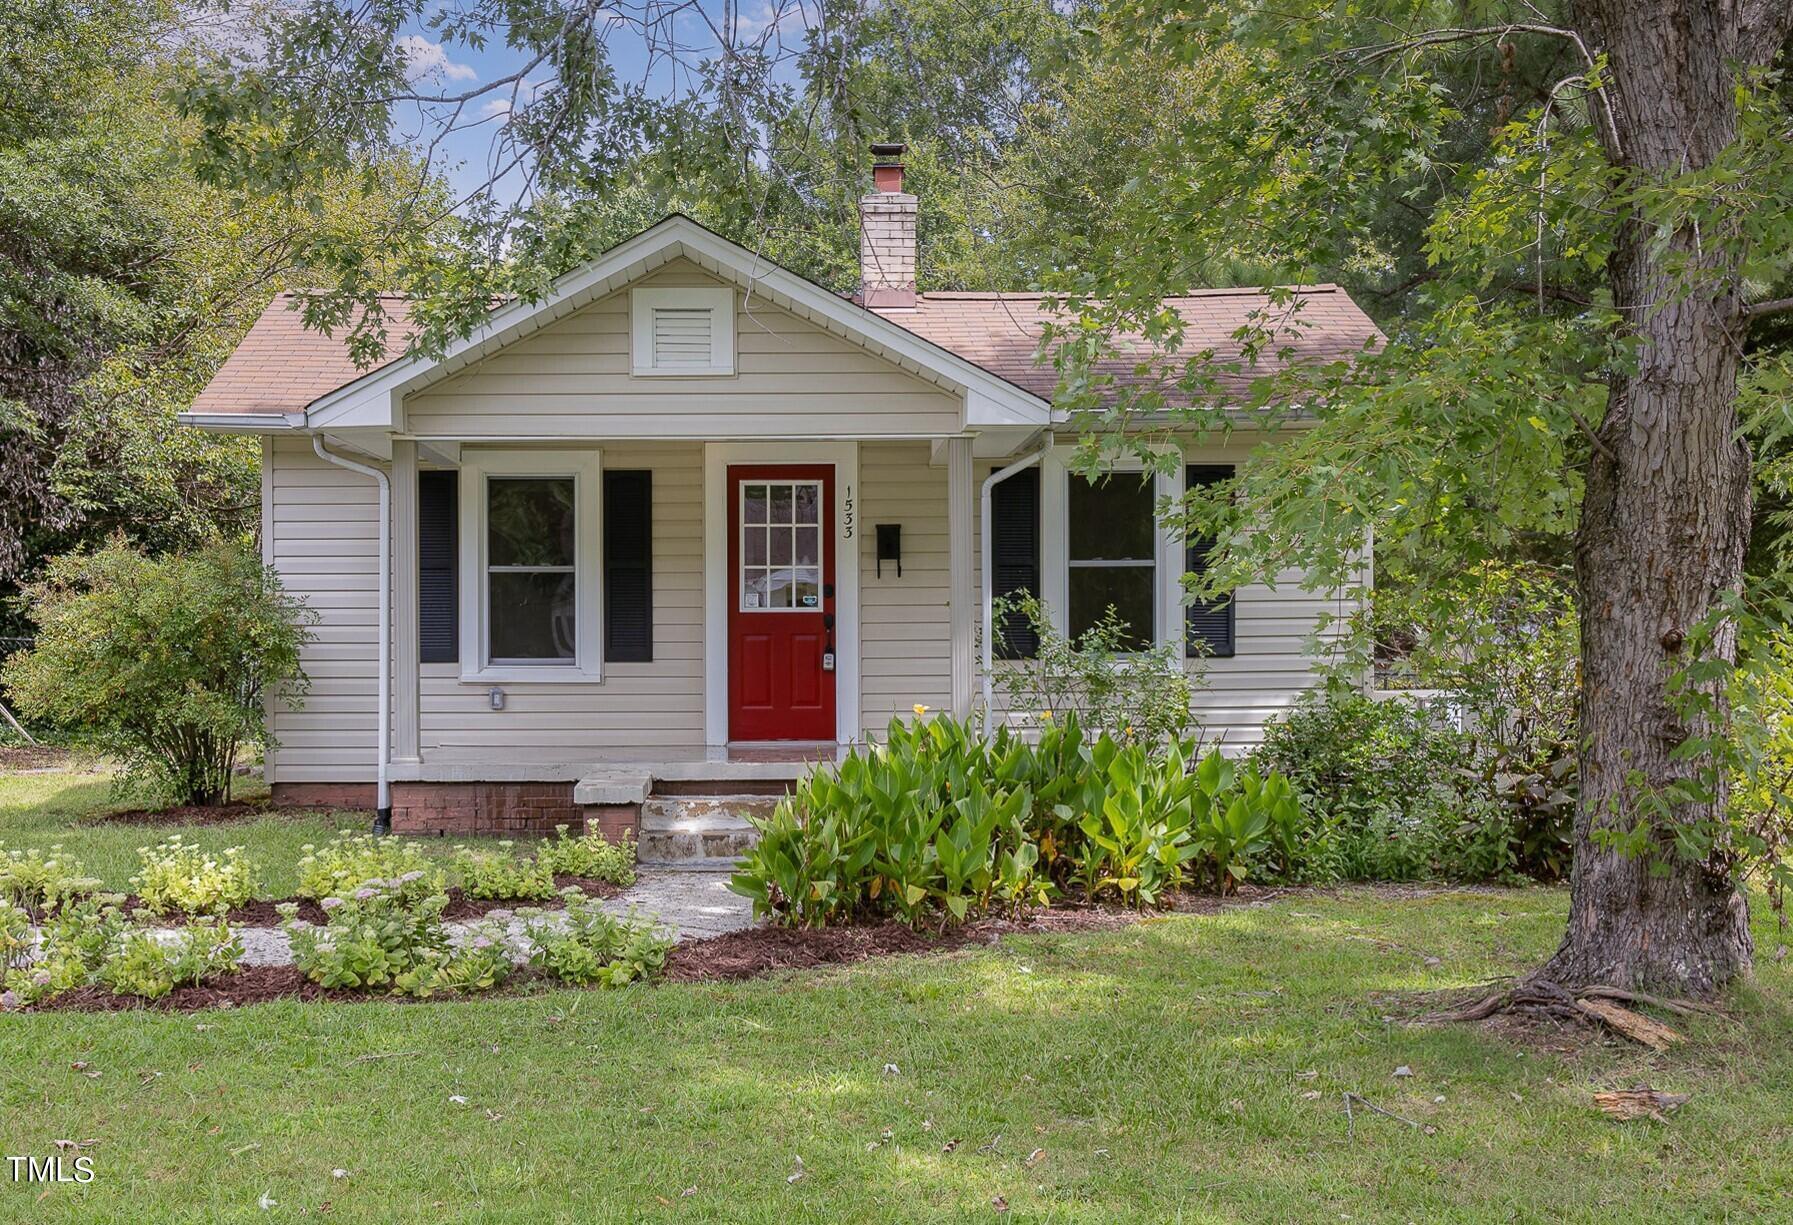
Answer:
[[(929, 443), (859, 447), (859, 710), (877, 735), (916, 703), (952, 708), (947, 466)], [(877, 567), (877, 524), (902, 526), (902, 578)]]

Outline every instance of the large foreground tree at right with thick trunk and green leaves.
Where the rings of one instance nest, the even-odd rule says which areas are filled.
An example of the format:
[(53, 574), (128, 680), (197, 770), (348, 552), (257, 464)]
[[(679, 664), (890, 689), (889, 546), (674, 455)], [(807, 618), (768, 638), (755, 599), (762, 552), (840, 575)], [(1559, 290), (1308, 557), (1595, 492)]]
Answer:
[[(1278, 294), (1239, 357), (1180, 352), (1162, 300), (1216, 251), (1404, 298), (1375, 353), (1257, 382), (1244, 407), (1262, 423), (1302, 405), (1314, 427), (1194, 518), (1225, 533), (1232, 578), (1302, 565), (1348, 583), (1373, 529), (1379, 567), (1422, 586), (1572, 531), (1581, 807), (1569, 931), (1544, 972), (1689, 994), (1746, 972), (1719, 744), (1750, 534), (1739, 371), (1752, 325), (1788, 305), (1773, 285), (1793, 255), (1789, 117), (1766, 72), (1788, 5), (1180, 16), (1119, 11), (1106, 36), (1189, 63), (1225, 45), (1248, 68), (1142, 167), (1117, 226), (1133, 248), (1052, 278), (1079, 314), (1067, 389), (1092, 402), (1112, 337), (1144, 334), (1160, 361), (1121, 413), (1194, 398), (1182, 416), (1226, 430), (1219, 368), (1248, 369), (1304, 323)], [(1424, 269), (1408, 273), (1391, 210)]]

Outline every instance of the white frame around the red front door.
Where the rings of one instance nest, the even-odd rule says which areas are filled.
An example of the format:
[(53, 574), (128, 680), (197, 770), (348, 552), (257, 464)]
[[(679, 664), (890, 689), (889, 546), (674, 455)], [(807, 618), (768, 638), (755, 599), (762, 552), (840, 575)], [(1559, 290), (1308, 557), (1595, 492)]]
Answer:
[(703, 445), (703, 741), (728, 744), (728, 466), (834, 465), (834, 726), (859, 739), (859, 443)]

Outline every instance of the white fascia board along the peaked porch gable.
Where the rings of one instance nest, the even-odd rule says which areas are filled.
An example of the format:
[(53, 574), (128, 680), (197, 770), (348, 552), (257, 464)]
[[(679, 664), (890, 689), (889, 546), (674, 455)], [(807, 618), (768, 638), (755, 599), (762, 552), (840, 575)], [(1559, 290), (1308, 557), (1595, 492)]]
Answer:
[(769, 264), (764, 256), (710, 233), (689, 217), (674, 215), (611, 248), (593, 264), (568, 273), (541, 301), (500, 307), (486, 323), (450, 344), (443, 357), (400, 359), (319, 396), (307, 411), (307, 421), (312, 429), (326, 425), (402, 429), (398, 411), (407, 391), (443, 378), (486, 352), (536, 332), (678, 256), (690, 258), (751, 292), (762, 292), (775, 305), (846, 335), (898, 366), (952, 386), (966, 396), (966, 425), (1045, 425), (1051, 418), (1051, 405), (1040, 396)]

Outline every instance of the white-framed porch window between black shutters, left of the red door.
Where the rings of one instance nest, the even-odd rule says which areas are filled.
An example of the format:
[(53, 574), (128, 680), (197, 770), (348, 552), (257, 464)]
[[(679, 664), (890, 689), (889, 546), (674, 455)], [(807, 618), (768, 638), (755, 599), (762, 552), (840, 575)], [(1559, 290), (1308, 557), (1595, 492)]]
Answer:
[(599, 674), (599, 457), (461, 456), (461, 678)]

